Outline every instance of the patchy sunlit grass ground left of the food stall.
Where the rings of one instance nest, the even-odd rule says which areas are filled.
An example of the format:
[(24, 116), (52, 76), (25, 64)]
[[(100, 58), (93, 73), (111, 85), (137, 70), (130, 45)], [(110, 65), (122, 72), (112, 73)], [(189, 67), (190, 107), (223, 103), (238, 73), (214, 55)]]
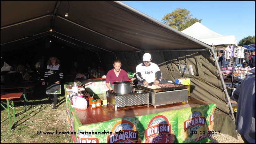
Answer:
[[(58, 97), (57, 109), (52, 110), (52, 102), (44, 95), (44, 87), (36, 85), (33, 97), (27, 103), (15, 102), (15, 120), (11, 112), (12, 130), (9, 129), (7, 111), (1, 106), (1, 143), (71, 143), (70, 135), (56, 135), (58, 132), (69, 131), (65, 96)], [(6, 105), (5, 105), (6, 106)], [(41, 131), (41, 134), (37, 134)], [(55, 132), (53, 135), (43, 132)]]

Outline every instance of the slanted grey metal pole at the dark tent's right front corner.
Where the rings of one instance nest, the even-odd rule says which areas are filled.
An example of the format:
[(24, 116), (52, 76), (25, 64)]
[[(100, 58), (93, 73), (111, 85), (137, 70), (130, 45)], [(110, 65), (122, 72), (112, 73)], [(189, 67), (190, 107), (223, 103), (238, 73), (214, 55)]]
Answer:
[(230, 99), (229, 99), (229, 96), (228, 96), (228, 91), (227, 91), (227, 88), (226, 88), (226, 85), (225, 85), (225, 82), (224, 82), (224, 79), (223, 79), (223, 76), (222, 76), (222, 73), (221, 73), (220, 65), (219, 65), (219, 63), (217, 62), (216, 50), (215, 50), (213, 47), (212, 47), (211, 50), (212, 50), (213, 57), (214, 57), (214, 59), (215, 59), (215, 63), (216, 63), (216, 65), (217, 65), (217, 69), (218, 69), (218, 72), (219, 72), (219, 75), (220, 75), (220, 81), (221, 81), (222, 87), (223, 87), (224, 92), (225, 92), (226, 100), (228, 101), (229, 110), (230, 110), (230, 112), (231, 112), (232, 119), (233, 119), (233, 121), (235, 122), (234, 111), (233, 111), (233, 108), (232, 108), (232, 105), (231, 105), (231, 102), (230, 102)]

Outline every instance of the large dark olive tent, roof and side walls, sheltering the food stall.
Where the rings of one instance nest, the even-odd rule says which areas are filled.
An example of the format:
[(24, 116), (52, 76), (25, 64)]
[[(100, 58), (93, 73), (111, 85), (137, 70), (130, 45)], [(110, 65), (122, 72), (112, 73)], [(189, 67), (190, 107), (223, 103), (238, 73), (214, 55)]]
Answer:
[[(53, 49), (65, 59), (90, 55), (106, 71), (118, 58), (133, 72), (148, 52), (164, 79), (190, 78), (191, 96), (217, 105), (214, 130), (237, 137), (215, 48), (120, 1), (1, 1), (1, 56), (12, 63), (10, 56), (25, 49), (31, 61)], [(192, 65), (195, 75), (180, 73), (178, 64)]]

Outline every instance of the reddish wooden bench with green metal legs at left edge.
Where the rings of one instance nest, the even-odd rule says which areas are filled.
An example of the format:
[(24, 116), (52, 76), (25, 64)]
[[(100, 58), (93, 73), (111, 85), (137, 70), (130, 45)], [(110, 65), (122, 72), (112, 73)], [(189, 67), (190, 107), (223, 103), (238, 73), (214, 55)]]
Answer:
[[(20, 98), (23, 95), (23, 93), (9, 93), (9, 94), (1, 94), (1, 106), (4, 107), (2, 104), (2, 100), (6, 100), (7, 102), (7, 108), (4, 107), (5, 110), (8, 112), (8, 118), (9, 118), (9, 125), (10, 125), (10, 130), (12, 130), (12, 125), (11, 125), (11, 116), (10, 116), (10, 108), (12, 109), (12, 115), (13, 115), (13, 122), (15, 123), (15, 110), (14, 110), (14, 103), (13, 99)], [(11, 105), (9, 105), (9, 99), (11, 99)], [(4, 103), (4, 102), (3, 102)]]

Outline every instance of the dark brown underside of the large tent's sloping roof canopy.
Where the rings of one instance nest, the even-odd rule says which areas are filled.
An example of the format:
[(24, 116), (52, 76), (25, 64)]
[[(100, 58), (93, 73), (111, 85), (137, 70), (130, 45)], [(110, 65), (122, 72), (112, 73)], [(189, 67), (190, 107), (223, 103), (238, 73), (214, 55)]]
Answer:
[(205, 48), (119, 3), (1, 1), (1, 52), (49, 39), (93, 52)]

